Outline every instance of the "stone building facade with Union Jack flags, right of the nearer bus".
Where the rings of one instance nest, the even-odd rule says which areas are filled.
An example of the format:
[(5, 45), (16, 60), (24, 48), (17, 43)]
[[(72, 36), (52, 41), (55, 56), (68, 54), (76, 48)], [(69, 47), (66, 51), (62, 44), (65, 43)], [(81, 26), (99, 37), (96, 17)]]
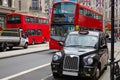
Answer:
[[(120, 0), (114, 0), (114, 30), (120, 34)], [(103, 13), (103, 26), (105, 31), (111, 31), (111, 0), (78, 0), (80, 4), (86, 5), (96, 11)]]

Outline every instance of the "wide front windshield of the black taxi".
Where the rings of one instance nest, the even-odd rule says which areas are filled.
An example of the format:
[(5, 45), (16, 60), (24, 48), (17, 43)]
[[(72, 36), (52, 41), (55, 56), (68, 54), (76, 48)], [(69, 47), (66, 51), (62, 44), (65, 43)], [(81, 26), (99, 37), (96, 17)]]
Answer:
[(70, 34), (66, 38), (66, 47), (89, 47), (93, 48), (98, 43), (98, 37), (92, 35)]

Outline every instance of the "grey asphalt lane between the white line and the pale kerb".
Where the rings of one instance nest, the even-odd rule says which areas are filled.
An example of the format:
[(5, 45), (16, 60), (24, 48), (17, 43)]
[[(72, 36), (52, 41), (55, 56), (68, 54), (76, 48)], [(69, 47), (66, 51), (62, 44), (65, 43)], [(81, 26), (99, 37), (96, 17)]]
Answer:
[(0, 80), (8, 76), (48, 64), (51, 61), (51, 51), (16, 56), (0, 60)]

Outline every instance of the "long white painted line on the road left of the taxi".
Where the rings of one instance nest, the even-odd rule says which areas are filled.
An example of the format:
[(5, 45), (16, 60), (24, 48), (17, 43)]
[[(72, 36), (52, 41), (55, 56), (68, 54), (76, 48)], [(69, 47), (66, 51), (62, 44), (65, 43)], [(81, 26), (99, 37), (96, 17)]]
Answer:
[(32, 68), (32, 69), (28, 69), (28, 70), (26, 70), (26, 71), (23, 71), (23, 72), (20, 72), (20, 73), (17, 73), (17, 74), (14, 74), (14, 75), (11, 75), (11, 76), (2, 78), (2, 79), (0, 79), (0, 80), (9, 80), (9, 79), (12, 79), (12, 78), (21, 76), (21, 75), (23, 75), (23, 74), (32, 72), (32, 71), (34, 71), (34, 70), (41, 69), (41, 68), (46, 67), (46, 66), (49, 66), (49, 65), (50, 65), (50, 63), (47, 63), (47, 64), (44, 64), (44, 65), (42, 65), (42, 66), (38, 66), (38, 67), (35, 67), (35, 68)]

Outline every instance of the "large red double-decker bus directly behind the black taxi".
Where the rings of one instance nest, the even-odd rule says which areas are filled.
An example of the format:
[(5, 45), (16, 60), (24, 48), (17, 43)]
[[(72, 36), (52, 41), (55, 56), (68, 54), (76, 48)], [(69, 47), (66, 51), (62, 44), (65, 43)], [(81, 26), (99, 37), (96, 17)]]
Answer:
[(56, 2), (51, 12), (50, 49), (58, 49), (70, 31), (78, 29), (103, 31), (103, 15), (76, 2)]

